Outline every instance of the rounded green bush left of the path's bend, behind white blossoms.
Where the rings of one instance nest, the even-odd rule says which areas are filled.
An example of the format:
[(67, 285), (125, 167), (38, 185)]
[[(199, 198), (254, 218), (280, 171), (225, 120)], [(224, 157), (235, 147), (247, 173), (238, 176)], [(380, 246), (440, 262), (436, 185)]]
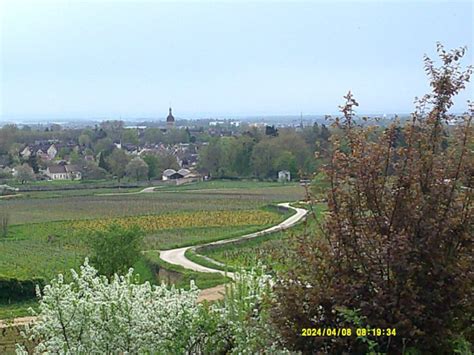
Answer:
[(137, 227), (124, 229), (112, 225), (104, 231), (94, 232), (89, 239), (92, 249), (90, 261), (101, 275), (126, 274), (140, 259), (142, 233)]

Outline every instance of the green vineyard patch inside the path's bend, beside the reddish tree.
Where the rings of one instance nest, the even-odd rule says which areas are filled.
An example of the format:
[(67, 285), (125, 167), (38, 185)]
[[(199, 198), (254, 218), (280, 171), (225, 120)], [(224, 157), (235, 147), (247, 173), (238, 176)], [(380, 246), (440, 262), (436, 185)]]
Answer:
[[(318, 218), (326, 210), (325, 204), (317, 204), (314, 206), (314, 211)], [(315, 230), (316, 219), (313, 215), (309, 215), (306, 222), (300, 223), (297, 226), (272, 234), (266, 234), (261, 237), (253, 238), (245, 242), (224, 244), (222, 246), (202, 249), (199, 253), (189, 251), (186, 256), (201, 265), (212, 267), (219, 270), (238, 270), (250, 269), (257, 266), (258, 263), (271, 265), (274, 269), (285, 269), (290, 267), (287, 260), (290, 260), (292, 253), (289, 248), (291, 238), (295, 235), (304, 233), (305, 229)], [(208, 258), (225, 264), (225, 267), (211, 263), (199, 254)], [(283, 256), (283, 260), (275, 260), (274, 255)], [(294, 260), (294, 259), (293, 259)]]

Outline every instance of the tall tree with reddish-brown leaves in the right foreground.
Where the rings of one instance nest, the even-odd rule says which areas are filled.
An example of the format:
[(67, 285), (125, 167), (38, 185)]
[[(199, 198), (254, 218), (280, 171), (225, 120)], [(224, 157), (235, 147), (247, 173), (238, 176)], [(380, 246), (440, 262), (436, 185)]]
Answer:
[[(465, 49), (438, 45), (441, 65), (425, 57), (432, 92), (416, 100), (403, 126), (375, 135), (345, 96), (333, 126), (328, 212), (319, 231), (295, 242), (299, 263), (276, 286), (273, 319), (289, 348), (307, 353), (368, 350), (452, 352), (473, 343), (474, 106), (449, 113), (472, 67)], [(400, 144), (400, 135), (403, 144)], [(302, 337), (308, 327), (396, 329), (394, 337)]]

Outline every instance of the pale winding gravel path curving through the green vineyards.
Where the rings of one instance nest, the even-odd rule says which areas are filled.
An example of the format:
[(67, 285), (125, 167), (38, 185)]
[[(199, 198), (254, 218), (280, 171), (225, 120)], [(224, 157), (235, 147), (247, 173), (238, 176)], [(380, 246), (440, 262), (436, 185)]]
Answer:
[(179, 266), (182, 266), (182, 267), (184, 267), (186, 269), (189, 269), (189, 270), (198, 271), (198, 272), (218, 272), (222, 275), (226, 275), (226, 276), (233, 279), (234, 274), (231, 273), (231, 272), (225, 272), (225, 271), (222, 271), (222, 270), (212, 269), (212, 268), (209, 268), (209, 267), (206, 267), (206, 266), (199, 265), (199, 264), (189, 260), (188, 258), (186, 258), (186, 255), (185, 255), (186, 251), (188, 251), (191, 248), (201, 248), (201, 247), (204, 247), (204, 246), (224, 245), (224, 244), (228, 244), (228, 243), (242, 241), (242, 240), (245, 240), (245, 239), (253, 239), (253, 238), (260, 237), (262, 235), (269, 234), (269, 233), (282, 231), (282, 230), (288, 229), (290, 227), (293, 227), (296, 223), (301, 221), (306, 216), (306, 214), (308, 213), (308, 210), (305, 210), (303, 208), (297, 208), (297, 207), (290, 206), (289, 202), (279, 203), (278, 206), (284, 207), (284, 208), (287, 208), (287, 209), (295, 210), (296, 213), (294, 215), (288, 217), (287, 219), (285, 219), (283, 222), (281, 222), (281, 223), (279, 223), (279, 224), (277, 224), (273, 227), (264, 229), (264, 230), (259, 231), (259, 232), (246, 234), (246, 235), (243, 235), (241, 237), (219, 240), (217, 242), (202, 244), (202, 245), (198, 245), (198, 246), (190, 246), (190, 247), (170, 249), (170, 250), (161, 250), (160, 251), (160, 258), (162, 260), (166, 261), (167, 263), (174, 264), (174, 265), (179, 265)]

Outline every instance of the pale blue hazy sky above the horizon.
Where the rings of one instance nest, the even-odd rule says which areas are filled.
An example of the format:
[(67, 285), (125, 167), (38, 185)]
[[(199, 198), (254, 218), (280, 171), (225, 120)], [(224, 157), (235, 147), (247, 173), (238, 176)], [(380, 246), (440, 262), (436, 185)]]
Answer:
[[(473, 2), (0, 0), (3, 119), (410, 112)], [(472, 85), (460, 101), (472, 98)], [(461, 110), (464, 105), (459, 106)]]

